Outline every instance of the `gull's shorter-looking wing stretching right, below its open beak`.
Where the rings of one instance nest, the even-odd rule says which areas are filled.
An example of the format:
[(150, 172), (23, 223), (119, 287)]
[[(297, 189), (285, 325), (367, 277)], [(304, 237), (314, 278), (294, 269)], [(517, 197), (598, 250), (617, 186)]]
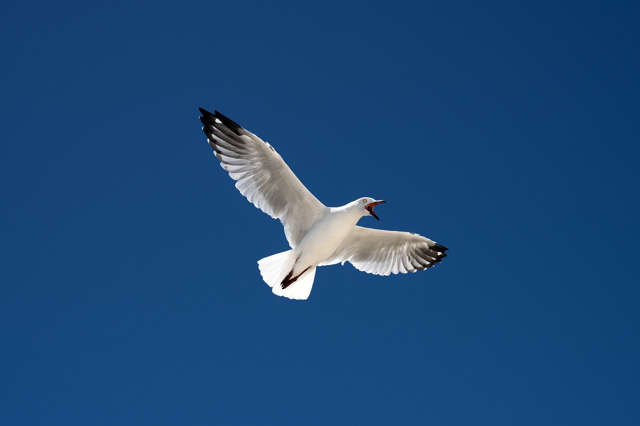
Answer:
[(417, 233), (355, 226), (335, 253), (320, 265), (349, 262), (369, 274), (406, 274), (442, 262), (447, 250)]

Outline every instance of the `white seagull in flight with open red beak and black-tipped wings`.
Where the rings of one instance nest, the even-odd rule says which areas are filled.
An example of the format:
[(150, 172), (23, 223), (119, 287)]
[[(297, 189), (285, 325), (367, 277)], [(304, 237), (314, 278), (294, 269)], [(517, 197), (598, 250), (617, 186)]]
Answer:
[(386, 201), (361, 197), (326, 207), (273, 146), (218, 111), (199, 109), (207, 141), (236, 188), (284, 226), (291, 249), (258, 261), (274, 294), (307, 299), (319, 266), (349, 262), (359, 271), (386, 276), (420, 271), (447, 256), (446, 247), (417, 233), (356, 225), (364, 216), (380, 221), (373, 208)]

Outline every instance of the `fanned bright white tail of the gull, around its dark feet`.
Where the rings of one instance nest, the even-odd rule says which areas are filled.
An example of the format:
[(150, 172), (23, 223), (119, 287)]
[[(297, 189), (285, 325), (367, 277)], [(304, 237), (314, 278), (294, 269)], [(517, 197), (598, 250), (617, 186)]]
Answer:
[(314, 285), (316, 267), (302, 274), (289, 287), (284, 289), (280, 287), (280, 283), (289, 274), (294, 263), (296, 263), (296, 258), (293, 250), (287, 250), (258, 260), (258, 268), (262, 280), (273, 289), (273, 294), (289, 297), (289, 299), (305, 300), (309, 297), (311, 287)]

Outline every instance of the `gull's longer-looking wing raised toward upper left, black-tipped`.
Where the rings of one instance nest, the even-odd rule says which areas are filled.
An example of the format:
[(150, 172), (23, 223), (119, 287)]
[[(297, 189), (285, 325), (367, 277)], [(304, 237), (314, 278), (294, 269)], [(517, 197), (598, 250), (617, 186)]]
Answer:
[(280, 219), (289, 246), (295, 248), (324, 216), (323, 205), (293, 174), (280, 154), (252, 132), (214, 111), (200, 108), (202, 130), (220, 165), (237, 180), (236, 188), (274, 219)]

